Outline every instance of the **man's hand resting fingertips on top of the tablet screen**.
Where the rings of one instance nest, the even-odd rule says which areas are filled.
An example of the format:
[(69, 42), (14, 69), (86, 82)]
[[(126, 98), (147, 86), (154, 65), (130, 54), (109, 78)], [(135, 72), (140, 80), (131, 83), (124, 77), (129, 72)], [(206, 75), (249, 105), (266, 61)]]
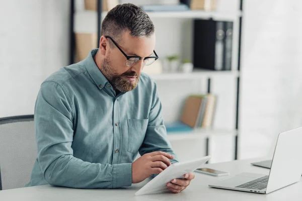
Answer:
[(172, 155), (162, 151), (142, 155), (132, 163), (132, 183), (139, 183), (152, 174), (161, 173), (171, 165), (169, 159), (172, 158)]

